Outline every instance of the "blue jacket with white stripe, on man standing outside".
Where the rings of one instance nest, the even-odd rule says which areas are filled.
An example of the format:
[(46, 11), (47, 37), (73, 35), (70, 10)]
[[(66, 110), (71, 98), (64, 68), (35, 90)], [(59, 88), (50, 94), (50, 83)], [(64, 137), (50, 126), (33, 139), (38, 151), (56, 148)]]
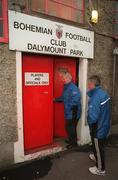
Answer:
[(106, 138), (110, 129), (110, 97), (100, 86), (89, 91), (88, 96), (90, 99), (87, 121), (90, 133), (92, 125), (96, 124), (96, 137), (98, 139)]

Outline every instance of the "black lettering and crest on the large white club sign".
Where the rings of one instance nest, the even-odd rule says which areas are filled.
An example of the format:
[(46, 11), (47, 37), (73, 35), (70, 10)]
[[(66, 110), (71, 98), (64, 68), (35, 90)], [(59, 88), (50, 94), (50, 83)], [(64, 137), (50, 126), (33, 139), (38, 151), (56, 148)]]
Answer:
[[(86, 43), (91, 43), (90, 37), (82, 36), (80, 34), (72, 34), (69, 32), (63, 32), (62, 27), (57, 27), (55, 32), (52, 29), (45, 28), (45, 27), (39, 27), (31, 24), (25, 24), (25, 23), (19, 23), (17, 21), (14, 21), (14, 28), (15, 29), (20, 29), (22, 31), (30, 31), (30, 32), (35, 32), (35, 33), (40, 33), (40, 34), (47, 34), (52, 36), (53, 33), (56, 34), (56, 37), (58, 39), (51, 39), (50, 40), (50, 45), (42, 45), (40, 43), (38, 44), (32, 44), (30, 41), (27, 43), (27, 49), (28, 50), (35, 50), (35, 51), (40, 51), (40, 52), (49, 52), (49, 53), (56, 53), (56, 54), (66, 54), (66, 47), (67, 47), (67, 42), (61, 40), (61, 38), (64, 36), (65, 39), (70, 39), (70, 40), (76, 40), (78, 41), (84, 41)], [(54, 36), (53, 36), (54, 37)], [(70, 55), (79, 55), (83, 56), (83, 51), (79, 49), (70, 49)]]

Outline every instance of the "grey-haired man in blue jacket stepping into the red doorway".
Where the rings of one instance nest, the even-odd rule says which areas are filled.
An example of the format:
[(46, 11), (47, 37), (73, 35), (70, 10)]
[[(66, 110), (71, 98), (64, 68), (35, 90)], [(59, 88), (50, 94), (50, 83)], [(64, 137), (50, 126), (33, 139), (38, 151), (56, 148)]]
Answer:
[(64, 89), (61, 97), (56, 102), (64, 103), (65, 128), (68, 135), (67, 148), (77, 146), (76, 127), (81, 116), (81, 95), (78, 87), (72, 82), (72, 75), (65, 68), (59, 69), (60, 76), (64, 81)]

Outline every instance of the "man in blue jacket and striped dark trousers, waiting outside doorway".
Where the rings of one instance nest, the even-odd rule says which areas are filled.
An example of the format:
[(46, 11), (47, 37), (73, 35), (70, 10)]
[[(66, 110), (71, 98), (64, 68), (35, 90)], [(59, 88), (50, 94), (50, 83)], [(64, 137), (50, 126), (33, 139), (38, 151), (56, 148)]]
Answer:
[(100, 87), (98, 76), (92, 76), (88, 83), (88, 125), (93, 146), (93, 154), (90, 159), (96, 162), (96, 166), (89, 168), (92, 174), (105, 175), (105, 140), (110, 129), (110, 97)]

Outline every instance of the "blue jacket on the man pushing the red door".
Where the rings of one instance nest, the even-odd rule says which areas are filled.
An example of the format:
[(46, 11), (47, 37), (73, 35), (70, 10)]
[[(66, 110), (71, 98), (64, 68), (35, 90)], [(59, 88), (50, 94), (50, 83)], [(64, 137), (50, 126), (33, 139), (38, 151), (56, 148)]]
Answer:
[(73, 119), (73, 107), (76, 107), (76, 119), (81, 116), (81, 95), (78, 87), (70, 82), (64, 85), (62, 96), (55, 99), (56, 102), (64, 102), (64, 116), (66, 120)]

